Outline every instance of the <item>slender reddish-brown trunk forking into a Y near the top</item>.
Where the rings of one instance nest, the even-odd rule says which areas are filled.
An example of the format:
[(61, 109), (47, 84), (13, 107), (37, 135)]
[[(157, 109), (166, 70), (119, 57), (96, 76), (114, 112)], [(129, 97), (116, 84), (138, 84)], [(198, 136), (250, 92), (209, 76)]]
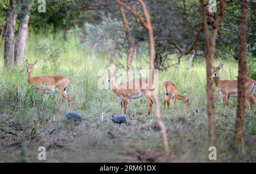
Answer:
[(226, 1), (220, 0), (220, 10), (216, 20), (212, 24), (212, 35), (208, 29), (207, 21), (207, 9), (205, 9), (205, 1), (200, 0), (203, 16), (203, 28), (205, 34), (205, 58), (207, 67), (207, 113), (209, 122), (209, 146), (215, 145), (215, 119), (214, 119), (214, 97), (212, 90), (212, 65), (214, 60), (214, 52), (216, 46), (216, 37), (218, 33), (218, 24), (220, 23), (222, 16), (224, 15)]

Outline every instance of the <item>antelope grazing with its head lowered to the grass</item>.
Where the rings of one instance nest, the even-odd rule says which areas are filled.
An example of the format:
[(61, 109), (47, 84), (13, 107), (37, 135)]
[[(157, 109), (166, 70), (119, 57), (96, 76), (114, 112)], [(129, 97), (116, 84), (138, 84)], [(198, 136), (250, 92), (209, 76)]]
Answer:
[(177, 108), (177, 102), (176, 102), (177, 99), (189, 105), (187, 92), (184, 91), (183, 95), (179, 95), (177, 86), (174, 84), (174, 82), (171, 82), (171, 81), (164, 82), (163, 96), (164, 96), (164, 108), (166, 108), (166, 103), (167, 103), (168, 109), (170, 109), (170, 104), (172, 99), (174, 99), (175, 108)]

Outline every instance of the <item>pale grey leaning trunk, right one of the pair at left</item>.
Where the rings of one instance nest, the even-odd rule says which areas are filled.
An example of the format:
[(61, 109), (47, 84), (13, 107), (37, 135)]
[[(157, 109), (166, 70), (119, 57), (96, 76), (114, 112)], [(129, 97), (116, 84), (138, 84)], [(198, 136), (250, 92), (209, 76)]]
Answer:
[(20, 12), (20, 22), (18, 36), (15, 45), (15, 57), (14, 61), (16, 65), (22, 65), (24, 60), (26, 41), (27, 41), (27, 31), (28, 31), (28, 21), (30, 19), (31, 7), (34, 0), (27, 0), (22, 4), (22, 11)]

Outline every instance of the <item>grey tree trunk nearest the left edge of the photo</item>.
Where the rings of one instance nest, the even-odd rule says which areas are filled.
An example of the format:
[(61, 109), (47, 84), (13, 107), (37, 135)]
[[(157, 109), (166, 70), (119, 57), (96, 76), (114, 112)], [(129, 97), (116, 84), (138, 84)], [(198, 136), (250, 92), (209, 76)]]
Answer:
[(5, 31), (5, 50), (3, 59), (5, 66), (14, 64), (14, 28), (16, 24), (15, 0), (10, 0), (6, 10), (6, 31)]

